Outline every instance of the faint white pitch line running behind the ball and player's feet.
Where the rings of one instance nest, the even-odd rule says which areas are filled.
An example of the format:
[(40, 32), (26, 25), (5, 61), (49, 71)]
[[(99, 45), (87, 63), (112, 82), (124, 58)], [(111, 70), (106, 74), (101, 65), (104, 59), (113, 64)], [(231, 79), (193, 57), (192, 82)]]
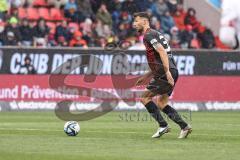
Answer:
[[(63, 130), (47, 130), (47, 129), (35, 129), (35, 128), (0, 128), (0, 130), (12, 130), (12, 131), (44, 131), (44, 132), (63, 132)], [(143, 134), (149, 135), (148, 133), (143, 132), (119, 132), (119, 131), (83, 131), (87, 133), (110, 133), (110, 134)], [(168, 133), (169, 134), (169, 133)], [(170, 133), (171, 134), (171, 133)], [(240, 137), (240, 135), (211, 135), (211, 134), (191, 134), (193, 136), (211, 136), (211, 137)]]

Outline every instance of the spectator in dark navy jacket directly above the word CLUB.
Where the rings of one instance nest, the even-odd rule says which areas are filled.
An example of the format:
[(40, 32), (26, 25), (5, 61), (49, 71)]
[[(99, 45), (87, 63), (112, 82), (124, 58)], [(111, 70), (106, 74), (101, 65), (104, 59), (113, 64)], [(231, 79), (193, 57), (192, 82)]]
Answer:
[(21, 42), (24, 46), (31, 46), (33, 41), (33, 29), (30, 27), (27, 19), (22, 20), (22, 25), (19, 27), (21, 34)]

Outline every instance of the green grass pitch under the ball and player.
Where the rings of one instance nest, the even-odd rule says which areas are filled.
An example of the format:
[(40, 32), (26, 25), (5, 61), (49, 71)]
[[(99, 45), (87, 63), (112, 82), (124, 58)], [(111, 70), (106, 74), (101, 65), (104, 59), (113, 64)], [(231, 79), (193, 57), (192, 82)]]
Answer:
[(2, 112), (0, 160), (240, 159), (240, 112), (192, 112), (193, 133), (184, 140), (171, 121), (170, 133), (152, 139), (157, 124), (147, 115), (111, 112), (80, 122), (79, 135), (68, 137), (54, 112)]

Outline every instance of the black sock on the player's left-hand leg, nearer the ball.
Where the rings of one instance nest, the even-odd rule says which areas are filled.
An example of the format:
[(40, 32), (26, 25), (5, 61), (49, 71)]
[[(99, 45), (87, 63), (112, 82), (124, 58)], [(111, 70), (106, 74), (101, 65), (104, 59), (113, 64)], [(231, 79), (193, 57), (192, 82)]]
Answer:
[(151, 114), (151, 116), (158, 122), (160, 127), (166, 127), (168, 124), (160, 114), (160, 110), (156, 106), (156, 104), (153, 101), (148, 102), (148, 104), (145, 105), (148, 112)]

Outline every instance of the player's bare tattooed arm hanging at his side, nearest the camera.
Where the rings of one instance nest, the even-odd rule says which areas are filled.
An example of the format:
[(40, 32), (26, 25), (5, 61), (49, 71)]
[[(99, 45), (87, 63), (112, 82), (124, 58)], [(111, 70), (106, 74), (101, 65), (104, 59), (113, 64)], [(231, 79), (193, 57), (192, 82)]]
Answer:
[(161, 58), (162, 63), (163, 63), (163, 68), (164, 68), (168, 83), (173, 86), (174, 85), (174, 79), (172, 78), (172, 74), (169, 71), (169, 61), (168, 61), (168, 55), (167, 55), (166, 50), (163, 48), (163, 46), (159, 42), (153, 43), (152, 45), (153, 45), (154, 49), (160, 55), (160, 58)]

